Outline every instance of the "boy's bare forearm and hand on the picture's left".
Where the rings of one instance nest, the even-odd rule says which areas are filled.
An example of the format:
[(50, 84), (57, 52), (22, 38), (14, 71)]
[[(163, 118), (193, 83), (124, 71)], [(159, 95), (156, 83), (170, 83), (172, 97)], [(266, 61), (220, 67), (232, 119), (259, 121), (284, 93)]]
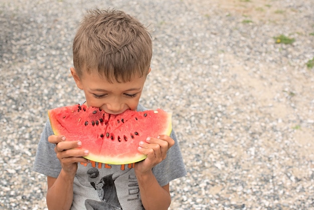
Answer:
[(72, 150), (81, 146), (81, 142), (66, 142), (61, 136), (52, 135), (48, 138), (50, 143), (56, 144), (55, 152), (60, 160), (62, 169), (57, 178), (47, 177), (47, 206), (49, 209), (70, 209), (73, 201), (73, 182), (77, 170), (77, 163), (89, 161), (82, 156), (88, 151)]

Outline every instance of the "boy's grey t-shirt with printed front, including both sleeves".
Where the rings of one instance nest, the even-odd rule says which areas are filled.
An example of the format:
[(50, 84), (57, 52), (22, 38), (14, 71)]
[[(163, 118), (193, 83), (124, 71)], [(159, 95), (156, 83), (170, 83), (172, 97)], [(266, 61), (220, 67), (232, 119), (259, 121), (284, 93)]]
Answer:
[[(137, 111), (144, 110), (147, 109), (139, 104)], [(53, 131), (48, 120), (38, 144), (33, 170), (57, 178), (61, 165), (54, 151), (55, 145), (48, 142), (51, 135)], [(170, 136), (175, 145), (169, 149), (167, 158), (152, 169), (161, 186), (187, 174), (174, 131)], [(71, 209), (144, 209), (133, 167), (134, 164), (78, 163)]]

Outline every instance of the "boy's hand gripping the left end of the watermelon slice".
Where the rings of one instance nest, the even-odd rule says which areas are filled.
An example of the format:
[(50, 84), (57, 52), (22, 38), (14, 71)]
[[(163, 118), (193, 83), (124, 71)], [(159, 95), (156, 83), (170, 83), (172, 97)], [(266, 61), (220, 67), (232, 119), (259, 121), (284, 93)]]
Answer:
[(88, 150), (74, 150), (75, 148), (80, 148), (82, 142), (80, 141), (66, 141), (64, 136), (52, 135), (48, 137), (48, 141), (55, 144), (55, 152), (57, 158), (61, 163), (61, 167), (64, 172), (70, 176), (75, 176), (77, 170), (77, 163), (89, 163), (89, 160), (83, 158), (82, 156), (88, 155)]

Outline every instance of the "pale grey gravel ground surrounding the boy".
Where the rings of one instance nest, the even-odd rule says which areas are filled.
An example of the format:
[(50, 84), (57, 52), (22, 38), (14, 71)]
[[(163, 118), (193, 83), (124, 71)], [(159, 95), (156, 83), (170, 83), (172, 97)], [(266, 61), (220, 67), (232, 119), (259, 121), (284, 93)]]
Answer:
[(47, 110), (83, 100), (72, 40), (87, 9), (109, 6), (152, 30), (141, 102), (173, 112), (188, 170), (171, 209), (314, 209), (308, 0), (1, 1), (1, 209), (46, 209), (32, 164)]

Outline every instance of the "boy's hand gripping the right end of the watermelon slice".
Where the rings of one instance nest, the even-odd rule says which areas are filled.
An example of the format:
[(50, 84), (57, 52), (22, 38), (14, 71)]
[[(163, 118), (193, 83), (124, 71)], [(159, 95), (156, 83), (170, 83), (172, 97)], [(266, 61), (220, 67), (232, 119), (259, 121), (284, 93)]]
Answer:
[(148, 137), (146, 142), (140, 142), (138, 150), (147, 155), (146, 159), (135, 163), (135, 171), (145, 174), (166, 159), (168, 150), (175, 144), (175, 141), (167, 136), (161, 135), (158, 138)]

